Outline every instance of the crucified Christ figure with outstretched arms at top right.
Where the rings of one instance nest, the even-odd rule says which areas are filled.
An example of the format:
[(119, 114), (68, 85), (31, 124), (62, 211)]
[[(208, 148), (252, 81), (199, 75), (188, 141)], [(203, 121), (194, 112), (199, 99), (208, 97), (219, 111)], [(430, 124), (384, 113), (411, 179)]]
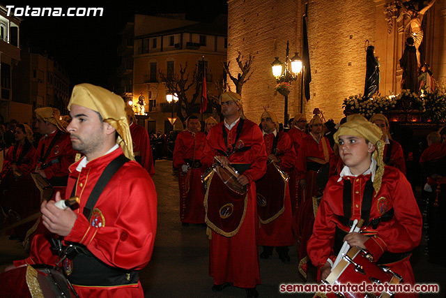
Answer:
[(406, 7), (406, 6), (404, 6), (403, 3), (397, 1), (397, 4), (399, 6), (401, 6), (401, 13), (399, 14), (397, 22), (403, 20), (403, 18), (406, 15), (408, 17), (410, 17), (408, 24), (406, 24), (406, 26), (403, 27), (403, 30), (404, 30), (403, 32), (406, 34), (406, 36), (408, 36), (410, 34), (410, 36), (414, 40), (414, 45), (415, 45), (416, 54), (417, 54), (417, 67), (421, 66), (420, 51), (418, 50), (418, 48), (421, 45), (421, 42), (423, 40), (423, 35), (424, 35), (423, 29), (422, 29), (424, 13), (426, 13), (426, 11), (433, 6), (433, 3), (435, 1), (436, 0), (431, 0), (426, 6), (424, 6), (424, 8), (420, 9), (419, 11), (415, 10), (415, 8), (413, 6)]

